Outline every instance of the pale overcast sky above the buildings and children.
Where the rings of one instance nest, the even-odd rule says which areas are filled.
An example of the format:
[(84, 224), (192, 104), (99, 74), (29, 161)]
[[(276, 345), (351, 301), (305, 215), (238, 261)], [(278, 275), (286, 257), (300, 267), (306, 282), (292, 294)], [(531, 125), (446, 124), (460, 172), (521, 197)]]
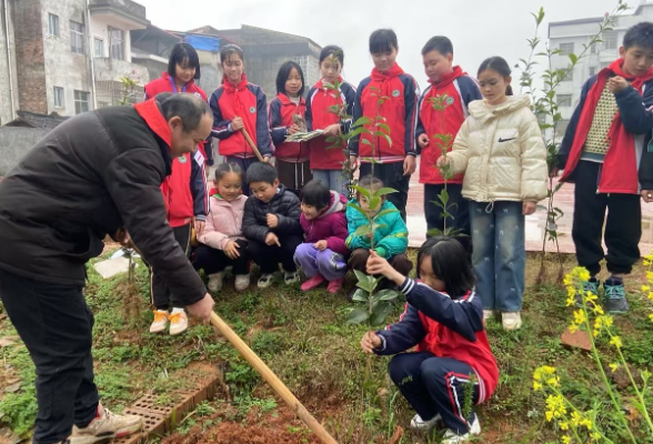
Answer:
[[(433, 36), (449, 37), (454, 63), (472, 73), (491, 56), (514, 65), (529, 53), (532, 37), (530, 12), (544, 7), (545, 21), (601, 17), (617, 0), (137, 0), (152, 24), (175, 31), (202, 26), (217, 29), (251, 24), (304, 36), (318, 44), (339, 44), (344, 50), (344, 77), (358, 85), (370, 74), (370, 33), (392, 28), (399, 37), (398, 62), (423, 87), (421, 50)], [(631, 0), (637, 6), (640, 0)], [(541, 37), (547, 34), (543, 23)]]

